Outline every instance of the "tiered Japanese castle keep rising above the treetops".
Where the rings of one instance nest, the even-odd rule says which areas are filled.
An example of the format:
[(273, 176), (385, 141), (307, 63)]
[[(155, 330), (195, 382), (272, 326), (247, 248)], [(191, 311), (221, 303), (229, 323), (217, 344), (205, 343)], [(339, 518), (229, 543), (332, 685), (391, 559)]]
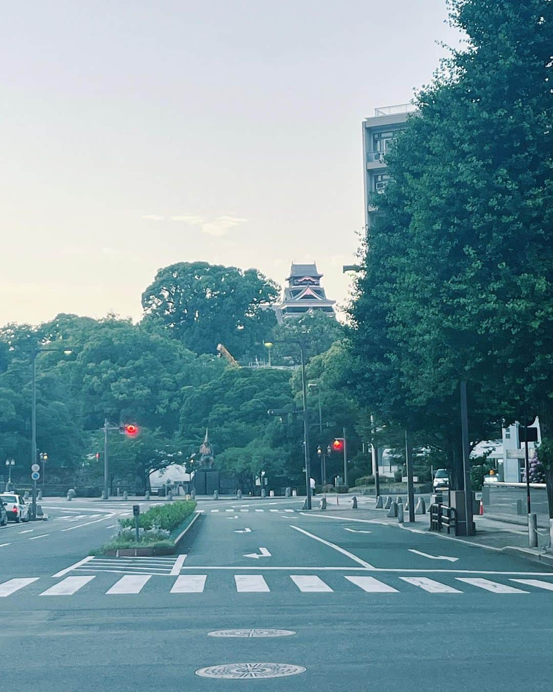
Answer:
[(276, 306), (277, 320), (279, 324), (283, 320), (302, 317), (310, 311), (322, 311), (329, 317), (335, 317), (335, 300), (328, 300), (324, 288), (321, 286), (321, 277), (317, 271), (317, 265), (294, 264), (290, 269), (290, 276), (286, 279), (288, 286), (284, 289), (284, 300)]

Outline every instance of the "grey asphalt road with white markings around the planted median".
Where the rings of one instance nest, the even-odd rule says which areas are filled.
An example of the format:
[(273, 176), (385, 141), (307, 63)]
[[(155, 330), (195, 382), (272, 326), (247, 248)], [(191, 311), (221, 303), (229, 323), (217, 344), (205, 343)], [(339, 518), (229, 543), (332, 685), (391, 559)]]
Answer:
[(48, 500), (48, 522), (1, 529), (2, 677), (64, 692), (552, 689), (539, 565), (295, 498), (200, 502), (180, 557), (85, 560), (131, 504)]

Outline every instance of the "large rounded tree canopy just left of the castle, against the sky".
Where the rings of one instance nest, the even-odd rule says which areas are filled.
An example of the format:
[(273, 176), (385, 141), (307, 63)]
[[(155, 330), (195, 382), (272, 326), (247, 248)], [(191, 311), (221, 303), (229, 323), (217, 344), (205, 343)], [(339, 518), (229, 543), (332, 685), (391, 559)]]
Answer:
[(218, 343), (236, 358), (263, 354), (263, 339), (275, 323), (267, 306), (279, 286), (256, 269), (207, 262), (178, 262), (158, 271), (142, 293), (144, 325), (167, 329), (197, 354)]

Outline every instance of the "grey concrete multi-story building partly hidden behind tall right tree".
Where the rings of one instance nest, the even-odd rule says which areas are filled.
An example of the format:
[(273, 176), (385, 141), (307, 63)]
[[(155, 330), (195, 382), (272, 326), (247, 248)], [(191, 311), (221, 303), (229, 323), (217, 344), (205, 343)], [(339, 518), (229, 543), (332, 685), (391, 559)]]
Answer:
[(415, 107), (404, 103), (375, 108), (375, 115), (363, 120), (363, 181), (367, 227), (371, 225), (371, 215), (375, 211), (371, 198), (373, 194), (382, 194), (386, 190), (389, 179), (384, 161), (386, 149), (397, 133), (404, 129), (407, 118), (414, 112)]

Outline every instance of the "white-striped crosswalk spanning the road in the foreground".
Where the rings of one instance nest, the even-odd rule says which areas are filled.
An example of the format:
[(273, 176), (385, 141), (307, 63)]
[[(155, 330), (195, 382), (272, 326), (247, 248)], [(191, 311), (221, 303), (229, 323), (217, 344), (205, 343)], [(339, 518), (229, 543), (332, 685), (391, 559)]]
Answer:
[[(553, 591), (553, 581), (544, 579), (509, 579), (503, 581), (483, 579), (481, 577), (451, 576), (451, 583), (430, 579), (425, 576), (399, 576), (395, 585), (367, 575), (334, 574), (331, 577), (317, 574), (124, 574), (106, 581), (109, 575), (65, 576), (61, 581), (52, 584), (52, 578), (24, 577), (8, 579), (0, 583), (0, 598), (20, 594), (26, 598), (32, 596), (68, 597), (91, 592), (100, 595), (138, 595), (142, 592), (149, 599), (156, 590), (164, 594), (205, 594), (221, 590), (236, 594), (267, 594), (290, 590), (297, 594), (332, 594), (359, 590), (369, 594), (400, 594), (427, 592), (429, 594), (470, 594), (491, 592), (494, 594), (529, 594)], [(165, 579), (160, 577), (165, 577)], [(167, 578), (169, 577), (169, 579)], [(552, 575), (553, 577), (553, 575)], [(388, 579), (393, 579), (388, 577)], [(113, 583), (112, 583), (113, 582)], [(329, 583), (330, 582), (330, 583)], [(511, 583), (516, 583), (513, 586)], [(402, 584), (404, 585), (402, 587)], [(106, 588), (108, 587), (109, 588)], [(521, 588), (521, 585), (524, 588)], [(32, 591), (32, 593), (30, 593)]]

